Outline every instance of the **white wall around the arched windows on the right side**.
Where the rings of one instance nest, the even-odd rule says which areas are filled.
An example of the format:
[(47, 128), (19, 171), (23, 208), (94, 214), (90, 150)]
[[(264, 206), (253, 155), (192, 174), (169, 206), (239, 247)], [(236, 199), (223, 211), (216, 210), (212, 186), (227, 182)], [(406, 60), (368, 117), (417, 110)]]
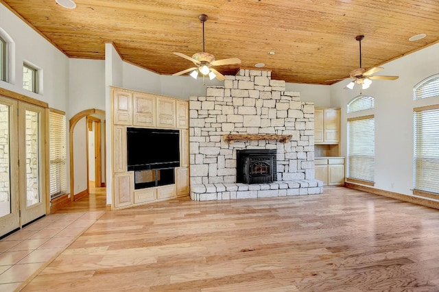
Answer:
[[(399, 75), (395, 81), (374, 80), (364, 95), (375, 97), (375, 188), (411, 195), (413, 188), (413, 108), (439, 104), (439, 98), (413, 101), (413, 86), (439, 73), (439, 44), (383, 64), (376, 75)], [(346, 104), (359, 95), (343, 89), (349, 80), (331, 86), (331, 105), (342, 108), (342, 155), (346, 156)], [(357, 116), (363, 115), (357, 113)]]

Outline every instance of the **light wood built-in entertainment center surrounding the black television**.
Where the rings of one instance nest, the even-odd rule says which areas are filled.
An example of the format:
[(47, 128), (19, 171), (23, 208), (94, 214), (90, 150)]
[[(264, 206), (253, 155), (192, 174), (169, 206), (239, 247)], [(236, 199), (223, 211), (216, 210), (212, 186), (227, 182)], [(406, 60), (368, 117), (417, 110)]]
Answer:
[[(189, 101), (111, 88), (112, 209), (128, 208), (189, 195)], [(127, 166), (127, 127), (180, 131), (180, 167), (174, 184), (134, 189), (134, 171)]]

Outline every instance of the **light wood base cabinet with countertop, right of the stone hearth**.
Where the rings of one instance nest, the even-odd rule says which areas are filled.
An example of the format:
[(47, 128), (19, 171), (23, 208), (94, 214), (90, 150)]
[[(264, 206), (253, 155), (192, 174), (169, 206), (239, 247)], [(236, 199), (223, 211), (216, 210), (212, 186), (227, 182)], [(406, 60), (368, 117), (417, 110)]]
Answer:
[(314, 172), (323, 186), (340, 186), (344, 184), (344, 158), (315, 158)]

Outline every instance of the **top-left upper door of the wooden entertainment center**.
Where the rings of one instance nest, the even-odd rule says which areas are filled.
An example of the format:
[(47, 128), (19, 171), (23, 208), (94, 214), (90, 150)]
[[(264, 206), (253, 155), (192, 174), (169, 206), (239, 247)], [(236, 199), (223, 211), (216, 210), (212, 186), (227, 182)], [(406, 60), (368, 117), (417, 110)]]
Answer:
[(112, 92), (113, 123), (132, 125), (132, 94), (123, 90)]

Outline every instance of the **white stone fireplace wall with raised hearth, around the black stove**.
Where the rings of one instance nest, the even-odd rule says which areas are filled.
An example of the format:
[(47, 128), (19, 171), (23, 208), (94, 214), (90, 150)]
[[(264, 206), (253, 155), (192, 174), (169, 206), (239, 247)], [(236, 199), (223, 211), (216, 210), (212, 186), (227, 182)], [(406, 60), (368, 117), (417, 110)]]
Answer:
[[(285, 81), (272, 80), (271, 72), (241, 70), (236, 76), (226, 76), (224, 87), (208, 87), (205, 97), (189, 99), (191, 197), (239, 198), (237, 190), (233, 191), (243, 184), (237, 182), (237, 151), (249, 149), (275, 151), (272, 169), (276, 173), (270, 189), (280, 190), (275, 182), (281, 182), (285, 190), (297, 185), (303, 188), (277, 195), (321, 193), (321, 185), (314, 180), (313, 130), (313, 103), (301, 102), (297, 92), (286, 92)], [(234, 135), (239, 138), (228, 138)], [(266, 188), (259, 184), (270, 182), (247, 188)], [(205, 195), (200, 197), (203, 190)], [(241, 194), (255, 196), (259, 197), (252, 192)]]

